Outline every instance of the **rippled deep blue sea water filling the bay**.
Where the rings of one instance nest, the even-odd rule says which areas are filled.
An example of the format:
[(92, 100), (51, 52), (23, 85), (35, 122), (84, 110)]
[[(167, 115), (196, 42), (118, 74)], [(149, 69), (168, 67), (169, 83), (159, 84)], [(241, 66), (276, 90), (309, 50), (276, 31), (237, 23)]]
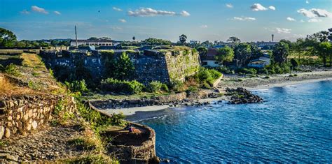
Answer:
[(155, 129), (157, 155), (172, 163), (332, 163), (332, 81), (253, 92), (265, 102), (140, 123)]

